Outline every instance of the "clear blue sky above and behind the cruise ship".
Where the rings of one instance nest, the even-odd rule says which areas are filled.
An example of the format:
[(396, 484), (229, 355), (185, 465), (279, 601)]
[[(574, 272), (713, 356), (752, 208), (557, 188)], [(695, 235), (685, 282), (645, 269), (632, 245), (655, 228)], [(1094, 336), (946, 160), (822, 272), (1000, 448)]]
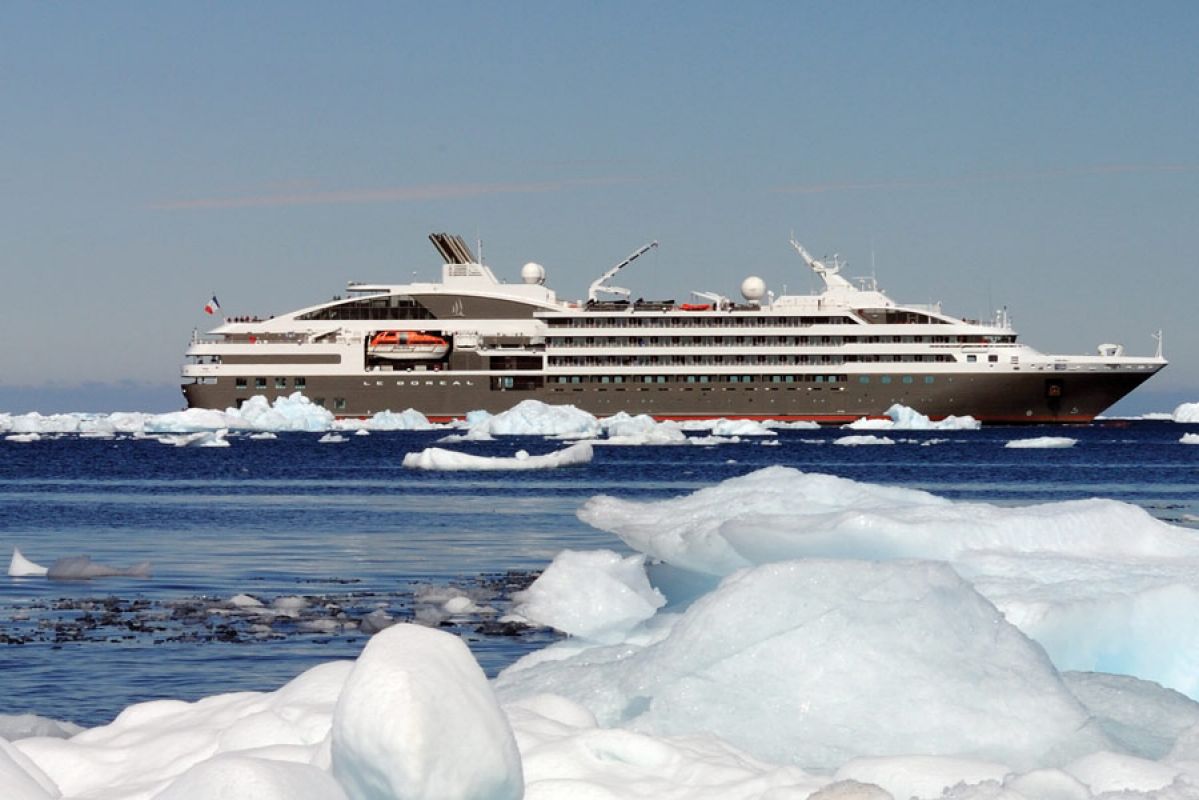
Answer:
[[(0, 409), (165, 410), (193, 327), (436, 275), (814, 282), (1171, 365), (1199, 401), (1193, 2), (0, 6)], [(102, 398), (102, 399), (101, 399)]]

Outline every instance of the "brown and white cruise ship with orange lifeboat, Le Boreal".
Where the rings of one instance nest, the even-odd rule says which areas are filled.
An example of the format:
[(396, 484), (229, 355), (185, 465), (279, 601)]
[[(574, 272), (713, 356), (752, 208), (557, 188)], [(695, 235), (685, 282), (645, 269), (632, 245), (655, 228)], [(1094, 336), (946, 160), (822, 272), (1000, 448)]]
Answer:
[(775, 296), (758, 277), (741, 296), (631, 297), (609, 282), (657, 242), (560, 300), (546, 270), (499, 281), (460, 236), (429, 236), (438, 283), (350, 283), (347, 295), (193, 333), (182, 368), (189, 407), (302, 392), (339, 417), (416, 409), (430, 420), (506, 410), (525, 398), (596, 416), (848, 422), (903, 404), (932, 417), (1087, 422), (1165, 366), (1117, 344), (1044, 355), (1017, 342), (1006, 312), (952, 317), (900, 305), (836, 258), (791, 245), (824, 290)]

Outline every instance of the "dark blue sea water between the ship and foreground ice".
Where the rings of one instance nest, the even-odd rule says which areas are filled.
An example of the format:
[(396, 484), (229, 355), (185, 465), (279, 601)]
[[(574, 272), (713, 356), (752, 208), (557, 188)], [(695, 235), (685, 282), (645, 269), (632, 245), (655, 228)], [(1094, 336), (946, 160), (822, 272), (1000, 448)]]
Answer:
[[(374, 432), (320, 444), (231, 435), (229, 447), (153, 439), (0, 439), (0, 558), (13, 547), (151, 577), (0, 577), (0, 712), (84, 726), (131, 703), (272, 690), (306, 668), (353, 658), (354, 624), (381, 609), (462, 636), (488, 674), (553, 634), (498, 621), (511, 595), (564, 548), (625, 551), (574, 512), (595, 494), (658, 499), (783, 464), (1004, 505), (1105, 497), (1199, 527), (1199, 426), (1111, 421), (1087, 427), (960, 432), (783, 429), (718, 446), (597, 446), (582, 467), (516, 473), (421, 473), (406, 452), (445, 432)], [(835, 446), (874, 433), (891, 446)], [(1070, 449), (1005, 449), (1065, 435)], [(504, 438), (447, 445), (477, 455), (549, 452), (561, 443)], [(447, 594), (498, 614), (438, 613)], [(227, 601), (302, 597), (295, 616), (249, 622)], [(430, 601), (430, 597), (433, 599)], [(294, 601), (291, 601), (294, 602)]]

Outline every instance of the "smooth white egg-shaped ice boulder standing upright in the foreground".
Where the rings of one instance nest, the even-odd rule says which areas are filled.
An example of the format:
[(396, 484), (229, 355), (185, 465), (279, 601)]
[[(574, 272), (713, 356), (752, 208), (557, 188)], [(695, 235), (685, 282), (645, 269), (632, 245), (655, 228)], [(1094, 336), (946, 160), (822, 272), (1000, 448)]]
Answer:
[(375, 634), (333, 714), (332, 770), (351, 800), (518, 800), (520, 754), (483, 670), (456, 636)]

